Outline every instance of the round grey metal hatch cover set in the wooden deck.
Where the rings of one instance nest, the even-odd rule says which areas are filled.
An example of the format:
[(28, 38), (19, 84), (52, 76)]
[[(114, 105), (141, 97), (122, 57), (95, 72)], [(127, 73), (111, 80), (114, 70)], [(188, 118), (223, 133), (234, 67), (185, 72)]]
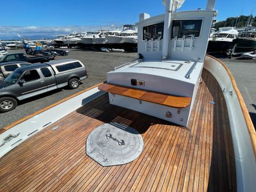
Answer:
[(86, 141), (86, 154), (102, 166), (123, 165), (135, 160), (144, 142), (137, 130), (120, 124), (94, 129)]

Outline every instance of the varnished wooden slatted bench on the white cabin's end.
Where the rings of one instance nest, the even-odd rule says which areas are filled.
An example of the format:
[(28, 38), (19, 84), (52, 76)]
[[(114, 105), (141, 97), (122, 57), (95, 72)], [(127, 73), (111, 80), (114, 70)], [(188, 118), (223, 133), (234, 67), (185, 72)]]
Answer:
[(172, 108), (185, 108), (188, 107), (191, 103), (191, 97), (173, 96), (165, 93), (152, 92), (143, 89), (134, 89), (108, 83), (99, 85), (98, 89), (100, 89), (100, 91), (165, 105)]

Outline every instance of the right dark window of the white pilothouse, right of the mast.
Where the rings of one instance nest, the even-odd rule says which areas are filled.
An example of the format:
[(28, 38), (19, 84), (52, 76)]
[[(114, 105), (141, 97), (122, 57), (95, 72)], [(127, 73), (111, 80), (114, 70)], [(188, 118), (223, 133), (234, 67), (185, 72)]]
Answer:
[(202, 19), (175, 20), (172, 26), (172, 38), (175, 38), (175, 36), (178, 38), (192, 35), (200, 36)]

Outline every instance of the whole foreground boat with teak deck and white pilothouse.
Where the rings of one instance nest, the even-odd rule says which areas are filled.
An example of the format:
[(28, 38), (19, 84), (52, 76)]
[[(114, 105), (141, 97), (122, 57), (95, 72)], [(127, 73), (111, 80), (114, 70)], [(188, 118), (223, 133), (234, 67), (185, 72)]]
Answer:
[(106, 83), (0, 130), (2, 191), (255, 191), (254, 126), (205, 55), (215, 1), (181, 4), (140, 15), (139, 58)]

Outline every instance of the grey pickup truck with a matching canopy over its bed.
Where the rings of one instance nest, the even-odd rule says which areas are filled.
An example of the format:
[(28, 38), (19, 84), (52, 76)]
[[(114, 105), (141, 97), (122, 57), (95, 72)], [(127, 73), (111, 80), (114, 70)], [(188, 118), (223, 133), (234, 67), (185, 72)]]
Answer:
[(65, 86), (78, 88), (86, 79), (83, 63), (76, 59), (55, 60), (17, 68), (0, 81), (0, 112), (17, 107), (18, 101)]

